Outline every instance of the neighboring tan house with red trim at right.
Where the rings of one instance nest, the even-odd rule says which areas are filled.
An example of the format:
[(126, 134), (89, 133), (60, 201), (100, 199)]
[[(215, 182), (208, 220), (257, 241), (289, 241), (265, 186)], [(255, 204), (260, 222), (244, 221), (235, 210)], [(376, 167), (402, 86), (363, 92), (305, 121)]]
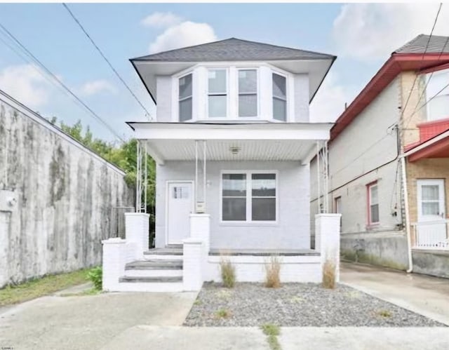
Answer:
[(407, 270), (413, 255), (413, 271), (449, 277), (448, 41), (394, 51), (330, 132), (328, 203), (347, 259)]

